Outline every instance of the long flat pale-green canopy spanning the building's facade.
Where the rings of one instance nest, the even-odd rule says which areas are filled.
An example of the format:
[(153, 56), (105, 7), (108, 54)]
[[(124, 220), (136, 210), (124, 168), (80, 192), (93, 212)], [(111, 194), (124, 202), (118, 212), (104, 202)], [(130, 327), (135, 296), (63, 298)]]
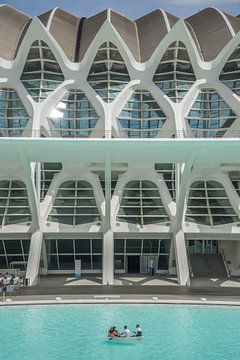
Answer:
[(240, 139), (2, 138), (1, 162), (240, 163)]

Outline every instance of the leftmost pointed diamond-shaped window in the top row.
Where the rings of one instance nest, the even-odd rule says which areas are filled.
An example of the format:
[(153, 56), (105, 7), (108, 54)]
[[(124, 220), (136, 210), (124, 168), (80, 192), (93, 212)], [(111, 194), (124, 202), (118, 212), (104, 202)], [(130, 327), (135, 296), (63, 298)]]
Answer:
[(32, 98), (39, 102), (64, 81), (64, 76), (51, 49), (42, 40), (32, 43), (21, 81)]

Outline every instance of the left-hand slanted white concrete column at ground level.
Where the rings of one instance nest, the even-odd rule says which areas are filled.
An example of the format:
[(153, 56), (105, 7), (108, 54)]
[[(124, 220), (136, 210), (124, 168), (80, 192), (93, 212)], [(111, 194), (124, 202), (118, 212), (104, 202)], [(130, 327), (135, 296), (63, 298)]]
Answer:
[(37, 284), (42, 251), (42, 240), (42, 231), (37, 230), (32, 234), (26, 273), (26, 279), (28, 279), (29, 286)]

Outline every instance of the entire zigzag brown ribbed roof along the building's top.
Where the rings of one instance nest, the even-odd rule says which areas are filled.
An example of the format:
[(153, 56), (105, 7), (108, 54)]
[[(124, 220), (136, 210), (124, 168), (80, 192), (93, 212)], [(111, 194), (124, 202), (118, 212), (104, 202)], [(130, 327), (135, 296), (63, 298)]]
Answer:
[[(39, 16), (72, 62), (81, 61), (97, 32), (109, 21), (139, 62), (147, 61), (176, 24), (178, 18), (157, 9), (136, 21), (113, 10), (104, 10), (88, 19), (54, 8)], [(13, 60), (31, 17), (8, 5), (0, 6), (0, 57)], [(215, 8), (207, 8), (185, 20), (205, 61), (213, 60), (240, 31), (240, 19)]]

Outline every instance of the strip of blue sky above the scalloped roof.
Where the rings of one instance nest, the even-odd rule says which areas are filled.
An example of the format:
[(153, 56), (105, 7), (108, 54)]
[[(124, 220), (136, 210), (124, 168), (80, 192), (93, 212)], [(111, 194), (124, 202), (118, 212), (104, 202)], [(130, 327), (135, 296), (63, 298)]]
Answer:
[(208, 6), (215, 6), (235, 16), (240, 14), (240, 0), (5, 0), (4, 3), (30, 16), (42, 14), (56, 6), (86, 17), (112, 8), (133, 20), (156, 8), (165, 9), (181, 18)]

